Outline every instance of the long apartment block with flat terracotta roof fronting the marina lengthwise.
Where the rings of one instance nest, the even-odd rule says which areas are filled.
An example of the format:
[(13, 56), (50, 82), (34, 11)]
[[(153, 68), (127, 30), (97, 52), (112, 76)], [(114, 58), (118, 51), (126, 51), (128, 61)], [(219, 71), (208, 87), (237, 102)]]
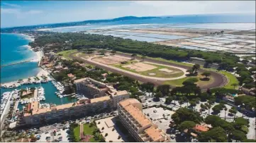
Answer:
[(126, 91), (110, 92), (111, 94), (95, 99), (79, 99), (79, 101), (50, 108), (39, 108), (39, 102), (33, 101), (28, 104), (28, 113), (25, 113), (23, 120), (28, 125), (35, 125), (44, 122), (57, 122), (73, 116), (87, 116), (89, 113), (97, 113), (106, 109), (115, 108), (117, 101), (129, 97)]

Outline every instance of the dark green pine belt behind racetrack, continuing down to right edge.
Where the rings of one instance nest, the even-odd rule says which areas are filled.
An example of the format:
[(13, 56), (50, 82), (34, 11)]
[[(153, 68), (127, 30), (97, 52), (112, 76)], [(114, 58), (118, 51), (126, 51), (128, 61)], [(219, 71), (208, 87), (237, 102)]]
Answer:
[[(52, 33), (37, 37), (30, 46), (45, 47), (45, 50), (63, 51), (67, 49), (111, 49), (129, 54), (138, 54), (153, 58), (163, 58), (174, 61), (187, 61), (190, 57), (204, 58), (206, 63), (219, 63), (220, 69), (238, 73), (240, 85), (245, 83), (245, 87), (255, 87), (253, 84), (252, 72), (245, 68), (245, 64), (238, 63), (239, 57), (233, 54), (211, 51), (196, 51), (191, 49), (182, 49), (148, 42), (138, 42), (131, 39), (122, 39), (120, 37), (90, 35), (83, 33)], [(231, 79), (232, 80), (232, 79)], [(232, 80), (233, 81), (233, 80)]]

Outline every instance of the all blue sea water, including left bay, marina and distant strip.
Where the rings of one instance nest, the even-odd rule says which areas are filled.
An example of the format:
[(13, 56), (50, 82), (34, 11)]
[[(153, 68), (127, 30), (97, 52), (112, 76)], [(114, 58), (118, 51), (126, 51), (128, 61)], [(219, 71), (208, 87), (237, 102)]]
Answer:
[[(91, 29), (113, 27), (150, 27), (166, 25), (166, 27), (216, 28), (230, 30), (255, 30), (255, 13), (207, 14), (207, 15), (175, 15), (150, 20), (125, 20), (112, 23), (99, 23), (84, 26), (56, 27), (45, 29), (52, 32), (77, 32)], [(26, 35), (1, 33), (1, 66), (35, 58), (35, 53), (28, 49), (30, 39)], [(1, 68), (1, 83), (11, 82), (37, 75), (40, 71), (37, 62), (22, 63)], [(23, 85), (20, 88), (45, 88), (45, 101), (52, 104), (66, 104), (74, 101), (69, 97), (58, 98), (57, 89), (51, 82), (42, 85)], [(1, 89), (1, 94), (13, 89)], [(21, 108), (21, 105), (19, 105)]]

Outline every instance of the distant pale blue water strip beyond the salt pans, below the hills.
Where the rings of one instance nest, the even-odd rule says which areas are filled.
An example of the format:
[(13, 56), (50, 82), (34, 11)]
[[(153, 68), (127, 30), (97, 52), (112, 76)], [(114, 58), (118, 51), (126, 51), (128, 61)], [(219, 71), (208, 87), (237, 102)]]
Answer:
[(94, 29), (125, 27), (128, 29), (143, 27), (191, 27), (226, 30), (255, 30), (255, 13), (174, 15), (168, 18), (149, 20), (124, 20), (110, 23), (98, 23), (82, 26), (49, 28), (53, 32), (78, 32)]

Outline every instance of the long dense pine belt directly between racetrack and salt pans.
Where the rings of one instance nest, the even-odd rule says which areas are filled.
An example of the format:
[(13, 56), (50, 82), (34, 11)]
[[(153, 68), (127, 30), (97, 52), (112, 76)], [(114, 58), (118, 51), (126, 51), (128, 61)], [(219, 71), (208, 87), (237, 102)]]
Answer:
[[(130, 54), (141, 54), (150, 57), (160, 57), (176, 61), (186, 61), (191, 56), (204, 58), (208, 63), (231, 63), (228, 66), (234, 66), (239, 61), (237, 56), (223, 54), (223, 61), (216, 52), (196, 51), (181, 49), (177, 47), (152, 44), (148, 42), (138, 42), (131, 39), (122, 39), (119, 37), (104, 35), (85, 35), (82, 33), (56, 33), (43, 37), (38, 37), (30, 46), (45, 46), (46, 44), (65, 44), (66, 41), (72, 42), (72, 49), (96, 48), (96, 49), (113, 49)], [(223, 65), (223, 67), (225, 67)]]

